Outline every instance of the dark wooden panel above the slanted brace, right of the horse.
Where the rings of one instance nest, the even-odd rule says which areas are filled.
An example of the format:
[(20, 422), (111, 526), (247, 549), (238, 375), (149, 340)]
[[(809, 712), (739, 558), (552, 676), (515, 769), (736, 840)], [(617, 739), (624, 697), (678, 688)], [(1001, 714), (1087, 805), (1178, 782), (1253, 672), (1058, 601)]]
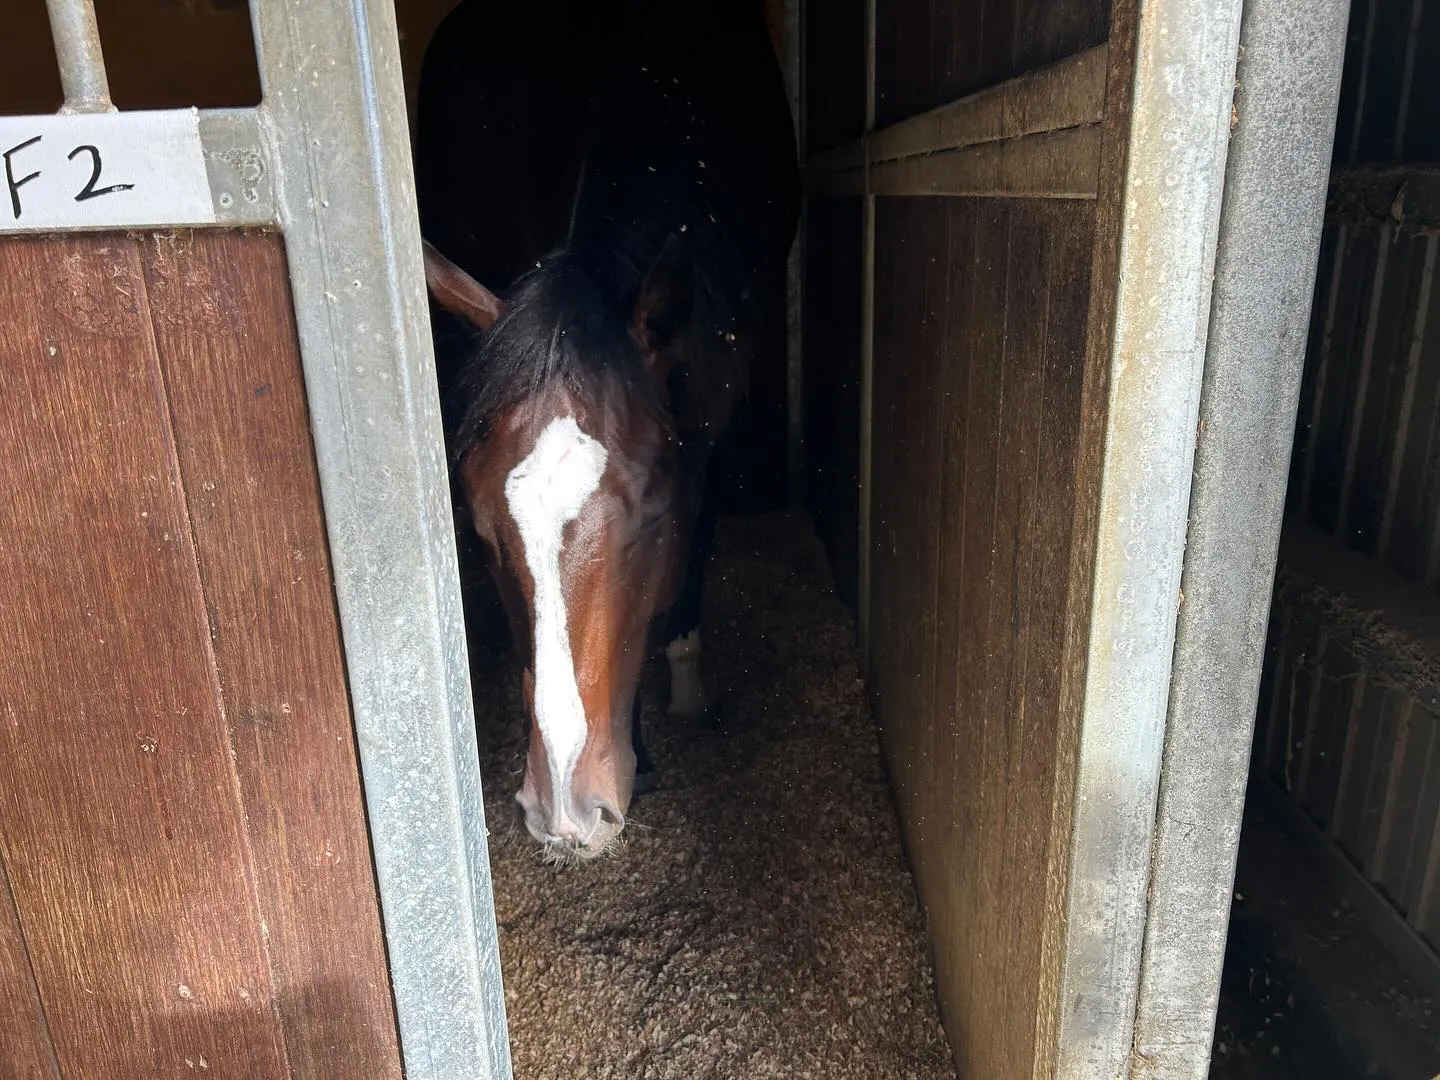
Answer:
[(1100, 45), (1109, 10), (1107, 0), (878, 0), (876, 121), (893, 124)]

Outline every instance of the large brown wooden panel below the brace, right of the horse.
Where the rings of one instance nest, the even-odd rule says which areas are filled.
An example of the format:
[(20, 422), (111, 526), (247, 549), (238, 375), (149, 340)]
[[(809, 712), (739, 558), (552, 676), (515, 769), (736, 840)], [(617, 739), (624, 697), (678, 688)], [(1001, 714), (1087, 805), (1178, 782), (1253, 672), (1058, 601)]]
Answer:
[(1087, 202), (877, 202), (871, 690), (962, 1076), (1040, 1053), (1092, 240)]

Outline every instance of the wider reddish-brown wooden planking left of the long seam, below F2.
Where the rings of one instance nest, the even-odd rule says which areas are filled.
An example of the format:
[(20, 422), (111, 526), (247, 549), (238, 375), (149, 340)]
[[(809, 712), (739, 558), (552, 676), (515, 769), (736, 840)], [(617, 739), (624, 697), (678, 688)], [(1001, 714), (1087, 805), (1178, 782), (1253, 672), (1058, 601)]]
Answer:
[(132, 242), (0, 243), (0, 844), (69, 1080), (284, 1077)]

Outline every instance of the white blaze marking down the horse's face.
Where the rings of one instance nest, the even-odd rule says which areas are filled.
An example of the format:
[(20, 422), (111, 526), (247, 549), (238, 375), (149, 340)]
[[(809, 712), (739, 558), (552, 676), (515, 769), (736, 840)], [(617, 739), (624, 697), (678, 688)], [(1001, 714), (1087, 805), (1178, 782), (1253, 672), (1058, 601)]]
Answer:
[(534, 449), (505, 477), (505, 503), (520, 530), (534, 582), (534, 710), (557, 815), (564, 812), (575, 763), (585, 749), (585, 704), (570, 654), (560, 580), (564, 527), (600, 484), (605, 446), (570, 416), (550, 420)]

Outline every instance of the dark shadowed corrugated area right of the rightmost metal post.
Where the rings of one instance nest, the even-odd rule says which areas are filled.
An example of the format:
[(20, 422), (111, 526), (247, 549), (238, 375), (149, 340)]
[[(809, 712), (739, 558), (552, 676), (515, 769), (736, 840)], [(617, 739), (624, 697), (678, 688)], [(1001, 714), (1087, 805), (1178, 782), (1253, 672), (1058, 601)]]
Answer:
[(1220, 1007), (1244, 1076), (1440, 1068), (1437, 49), (1433, 7), (1351, 6)]

